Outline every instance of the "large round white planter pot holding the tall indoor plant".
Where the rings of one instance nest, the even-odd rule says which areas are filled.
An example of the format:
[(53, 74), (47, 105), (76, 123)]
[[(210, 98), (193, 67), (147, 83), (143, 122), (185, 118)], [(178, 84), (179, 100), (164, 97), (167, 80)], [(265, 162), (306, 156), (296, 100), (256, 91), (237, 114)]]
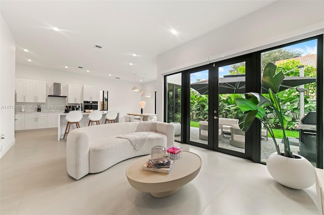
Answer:
[(290, 158), (274, 152), (267, 159), (267, 169), (278, 183), (294, 188), (305, 189), (315, 183), (315, 168), (303, 156)]

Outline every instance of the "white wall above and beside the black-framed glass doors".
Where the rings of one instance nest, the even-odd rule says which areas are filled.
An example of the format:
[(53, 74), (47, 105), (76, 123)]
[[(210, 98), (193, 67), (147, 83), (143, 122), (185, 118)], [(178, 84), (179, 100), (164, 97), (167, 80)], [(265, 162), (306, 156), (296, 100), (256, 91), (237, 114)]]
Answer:
[(277, 1), (159, 55), (158, 120), (163, 119), (164, 75), (323, 33), (323, 8), (323, 1)]

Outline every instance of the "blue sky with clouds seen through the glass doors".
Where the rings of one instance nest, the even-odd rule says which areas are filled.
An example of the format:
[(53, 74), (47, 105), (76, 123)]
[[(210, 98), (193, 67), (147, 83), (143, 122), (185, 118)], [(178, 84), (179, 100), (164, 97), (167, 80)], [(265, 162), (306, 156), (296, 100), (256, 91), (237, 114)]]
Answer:
[[(302, 56), (306, 56), (306, 55), (316, 53), (317, 40), (309, 40), (306, 42), (290, 45), (285, 48), (291, 51), (302, 51), (303, 52)], [(229, 68), (230, 68), (229, 66), (220, 67), (219, 77), (223, 77), (224, 75), (229, 75), (228, 72)], [(197, 79), (200, 79), (201, 81), (208, 79), (208, 70), (190, 74), (190, 83), (195, 83)]]

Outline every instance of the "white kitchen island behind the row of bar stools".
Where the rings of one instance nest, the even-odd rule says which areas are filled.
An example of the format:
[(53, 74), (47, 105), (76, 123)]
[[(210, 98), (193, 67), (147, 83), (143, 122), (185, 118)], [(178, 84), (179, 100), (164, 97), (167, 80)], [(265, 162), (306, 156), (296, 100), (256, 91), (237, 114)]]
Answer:
[[(59, 114), (59, 118), (58, 118), (58, 129), (57, 129), (57, 141), (60, 141), (60, 139), (63, 138), (64, 136), (64, 132), (65, 132), (65, 128), (66, 128), (66, 120), (65, 117), (68, 113), (60, 113)], [(82, 113), (83, 118), (82, 120), (79, 122), (80, 127), (86, 127), (88, 126), (89, 120), (88, 120), (88, 116), (91, 113)], [(107, 111), (102, 111), (102, 118), (100, 120), (100, 124), (104, 124), (105, 123), (105, 116), (107, 114)], [(119, 122), (119, 113), (117, 114), (117, 118), (116, 118), (116, 123)], [(75, 129), (76, 126), (75, 125), (71, 125), (70, 127), (70, 131), (72, 131), (73, 129)]]

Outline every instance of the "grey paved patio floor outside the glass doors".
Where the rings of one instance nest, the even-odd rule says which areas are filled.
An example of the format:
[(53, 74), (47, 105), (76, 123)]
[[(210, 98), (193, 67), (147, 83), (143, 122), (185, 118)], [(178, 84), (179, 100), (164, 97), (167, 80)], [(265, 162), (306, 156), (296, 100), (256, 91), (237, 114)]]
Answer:
[[(238, 148), (238, 147), (230, 145), (229, 139), (230, 139), (230, 135), (224, 134), (223, 139), (219, 140), (219, 147), (226, 148), (229, 150), (239, 151), (239, 152), (245, 152), (244, 148)], [(175, 140), (180, 141), (180, 136), (175, 136)], [(207, 145), (206, 140), (199, 139), (199, 128), (190, 127), (190, 140), (193, 142), (198, 142), (198, 143)], [(281, 143), (281, 139), (277, 139), (277, 143), (279, 144), (280, 149), (284, 148), (284, 144)], [(291, 150), (294, 153), (297, 153), (297, 151), (299, 150), (299, 146), (291, 145)], [(266, 140), (265, 138), (262, 138), (262, 140), (261, 140), (261, 162), (266, 162), (268, 156), (273, 152), (275, 152), (273, 140), (271, 138), (268, 138), (268, 140)]]

